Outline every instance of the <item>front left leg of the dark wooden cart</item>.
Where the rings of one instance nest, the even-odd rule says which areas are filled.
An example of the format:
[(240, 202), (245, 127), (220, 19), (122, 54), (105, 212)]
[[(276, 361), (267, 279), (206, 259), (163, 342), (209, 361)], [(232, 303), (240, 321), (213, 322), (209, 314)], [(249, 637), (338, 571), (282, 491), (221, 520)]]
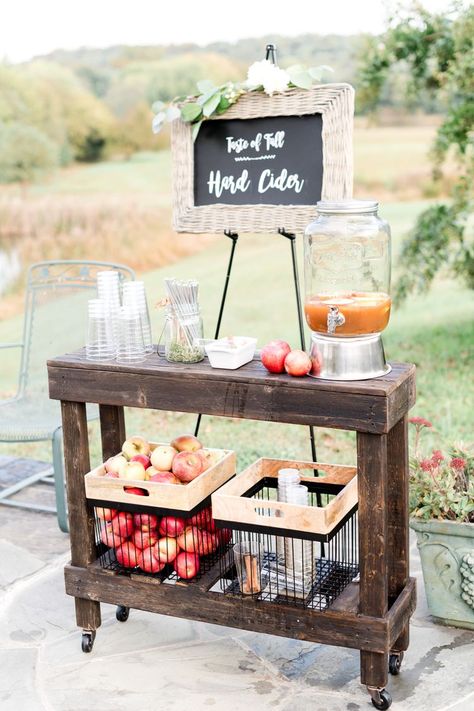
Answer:
[[(66, 468), (71, 563), (86, 568), (96, 558), (94, 515), (87, 505), (84, 476), (90, 470), (86, 406), (82, 402), (61, 402), (64, 464)], [(75, 598), (79, 627), (94, 633), (100, 627), (100, 603)], [(92, 641), (93, 641), (93, 636)], [(92, 648), (92, 647), (91, 647)], [(90, 650), (89, 650), (90, 651)]]

